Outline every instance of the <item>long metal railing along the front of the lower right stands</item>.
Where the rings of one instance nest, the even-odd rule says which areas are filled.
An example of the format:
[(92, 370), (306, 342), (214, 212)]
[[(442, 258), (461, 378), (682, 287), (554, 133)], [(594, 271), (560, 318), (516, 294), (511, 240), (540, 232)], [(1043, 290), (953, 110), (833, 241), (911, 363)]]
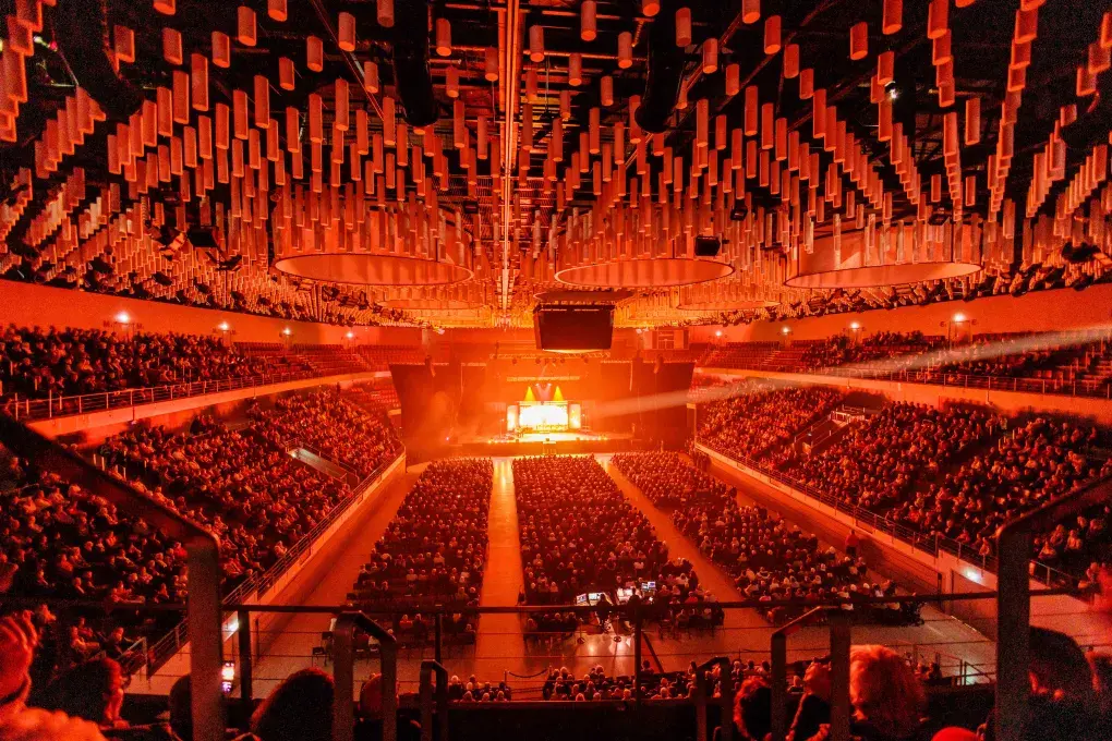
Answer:
[[(980, 555), (977, 554), (976, 560), (972, 559), (973, 549), (969, 545), (964, 545), (961, 542), (949, 538), (946, 535), (935, 534), (933, 537), (924, 535), (911, 528), (902, 525), (897, 522), (888, 520), (887, 517), (882, 517), (866, 510), (857, 504), (847, 502), (845, 500), (838, 499), (828, 492), (821, 491), (814, 487), (810, 487), (798, 479), (794, 479), (783, 471), (777, 471), (774, 468), (770, 468), (767, 464), (756, 461), (752, 458), (745, 455), (735, 455), (733, 453), (726, 453), (717, 448), (708, 444), (705, 441), (696, 440), (696, 445), (703, 448), (704, 450), (711, 451), (726, 460), (734, 461), (735, 463), (741, 463), (742, 465), (753, 469), (758, 473), (773, 479), (774, 481), (782, 483), (795, 491), (810, 497), (811, 499), (818, 500), (821, 503), (837, 510), (840, 512), (845, 512), (854, 520), (863, 522), (874, 530), (878, 530), (883, 533), (898, 538), (900, 540), (909, 543), (913, 549), (921, 550), (924, 553), (930, 553), (931, 555), (937, 557), (940, 551), (945, 551), (952, 555), (955, 555), (959, 560), (965, 561), (972, 565), (979, 567), (989, 572), (996, 572), (997, 564), (1000, 562), (999, 555)], [(1105, 477), (1104, 479), (1098, 479), (1096, 481), (1090, 483), (1100, 483), (1103, 481), (1112, 481), (1112, 474)], [(1046, 584), (1053, 584), (1055, 582), (1066, 583), (1075, 587), (1079, 583), (1079, 579), (1072, 574), (1064, 571), (1055, 569), (1046, 563), (1037, 561), (1035, 559), (1029, 558), (1024, 563), (1033, 564), (1031, 569), (1032, 578), (1043, 581)], [(1044, 579), (1040, 575), (1045, 574)]]

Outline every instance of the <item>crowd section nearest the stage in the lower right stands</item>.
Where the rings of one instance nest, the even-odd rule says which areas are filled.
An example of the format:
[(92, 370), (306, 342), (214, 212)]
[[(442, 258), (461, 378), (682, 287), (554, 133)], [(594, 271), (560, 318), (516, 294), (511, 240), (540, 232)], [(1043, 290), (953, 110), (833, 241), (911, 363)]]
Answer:
[(724, 455), (759, 460), (781, 450), (841, 399), (836, 389), (827, 387), (776, 388), (746, 382), (729, 398), (698, 408), (698, 437)]

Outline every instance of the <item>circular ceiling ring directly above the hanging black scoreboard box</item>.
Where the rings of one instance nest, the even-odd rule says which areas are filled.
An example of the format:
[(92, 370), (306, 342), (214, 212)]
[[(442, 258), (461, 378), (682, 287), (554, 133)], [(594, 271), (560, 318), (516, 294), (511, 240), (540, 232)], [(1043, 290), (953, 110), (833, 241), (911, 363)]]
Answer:
[(695, 286), (733, 272), (732, 264), (717, 260), (647, 258), (564, 268), (556, 280), (567, 286), (648, 289)]

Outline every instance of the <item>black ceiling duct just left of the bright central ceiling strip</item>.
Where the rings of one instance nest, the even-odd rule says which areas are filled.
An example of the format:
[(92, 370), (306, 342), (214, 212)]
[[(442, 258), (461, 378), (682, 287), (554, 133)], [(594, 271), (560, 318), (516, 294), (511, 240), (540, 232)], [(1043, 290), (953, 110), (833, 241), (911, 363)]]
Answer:
[(428, 69), (428, 2), (407, 0), (394, 11), (394, 84), (406, 121), (418, 128), (430, 126), (439, 112)]

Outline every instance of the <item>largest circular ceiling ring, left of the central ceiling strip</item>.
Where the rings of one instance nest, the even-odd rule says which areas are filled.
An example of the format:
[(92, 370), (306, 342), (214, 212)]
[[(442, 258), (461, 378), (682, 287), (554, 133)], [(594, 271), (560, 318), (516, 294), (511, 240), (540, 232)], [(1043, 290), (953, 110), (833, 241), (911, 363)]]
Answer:
[(358, 252), (290, 254), (276, 260), (272, 267), (298, 278), (357, 286), (449, 286), (473, 274), (450, 262)]

